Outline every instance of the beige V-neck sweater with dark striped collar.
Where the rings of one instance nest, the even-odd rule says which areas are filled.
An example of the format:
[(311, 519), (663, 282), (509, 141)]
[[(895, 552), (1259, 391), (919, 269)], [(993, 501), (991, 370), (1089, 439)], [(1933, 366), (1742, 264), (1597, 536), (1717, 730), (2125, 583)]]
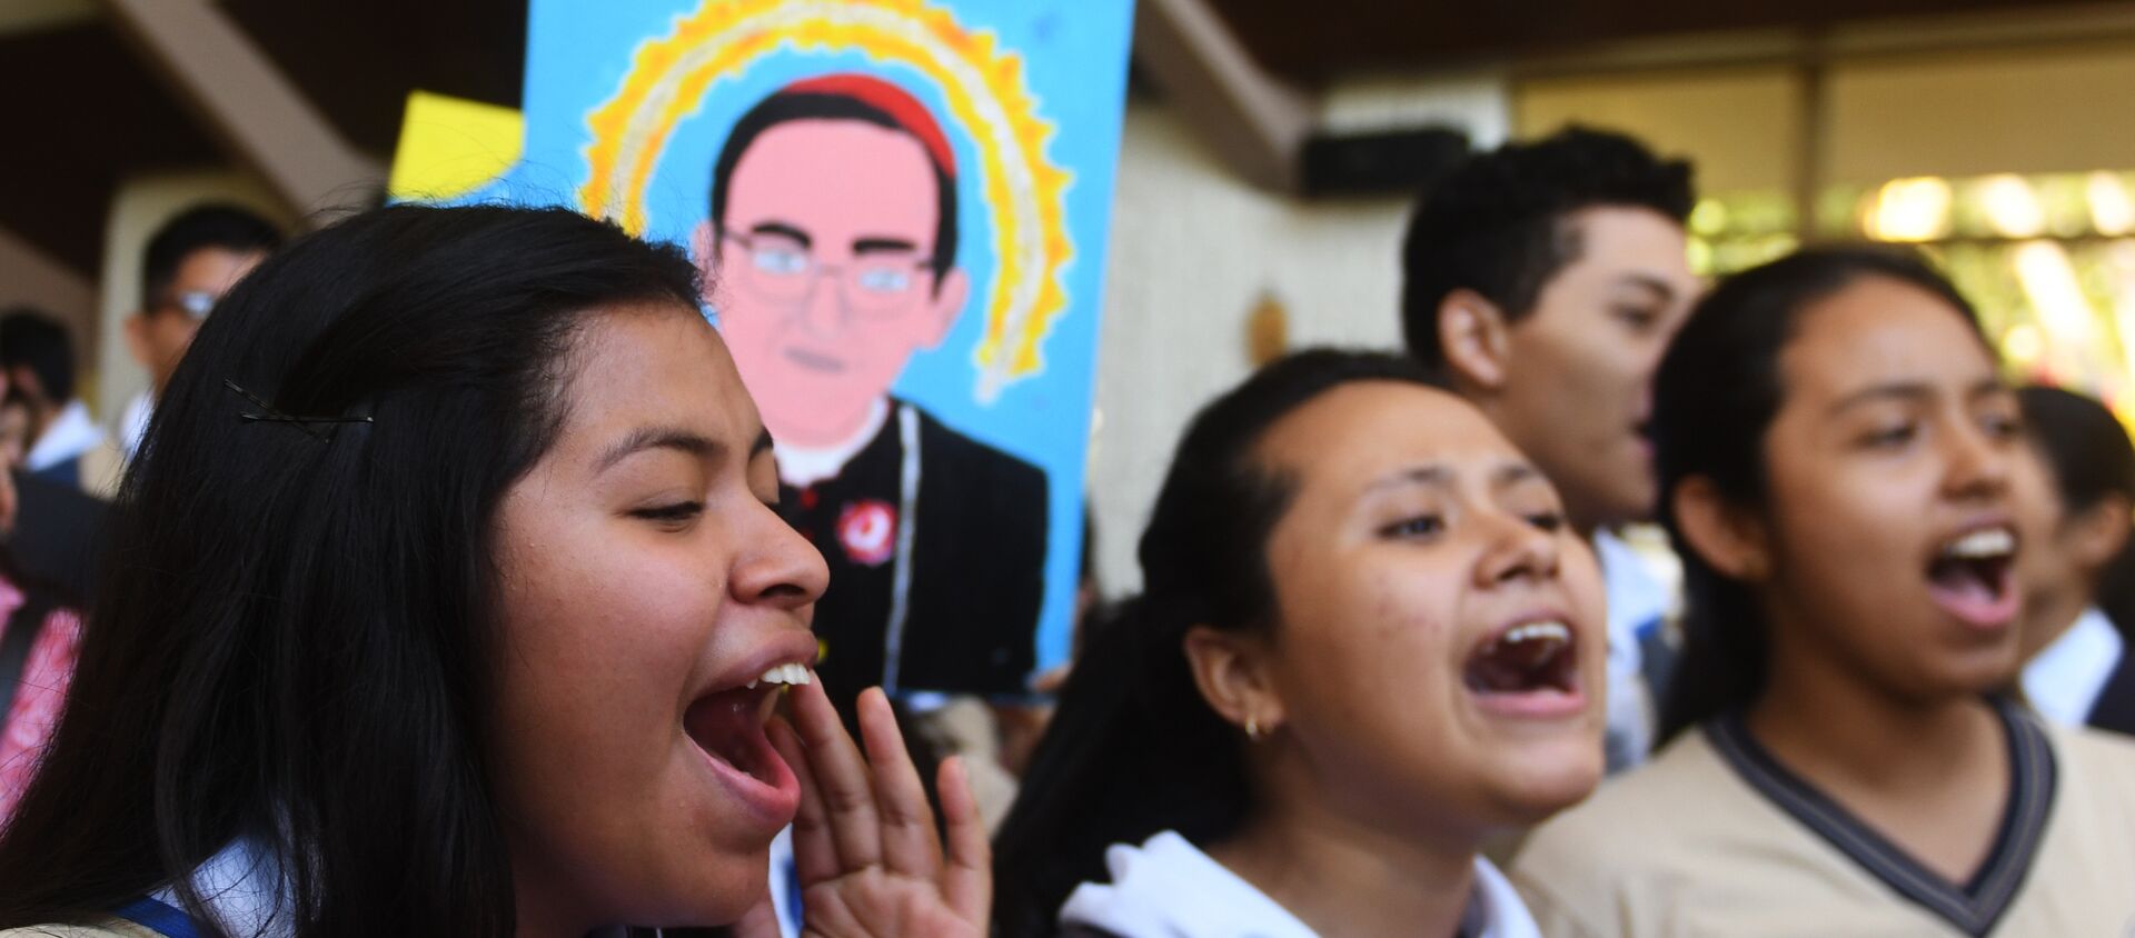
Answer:
[(2135, 742), (2005, 718), (2024, 795), (1973, 889), (1712, 727), (1535, 831), (1512, 880), (1565, 938), (2135, 936)]

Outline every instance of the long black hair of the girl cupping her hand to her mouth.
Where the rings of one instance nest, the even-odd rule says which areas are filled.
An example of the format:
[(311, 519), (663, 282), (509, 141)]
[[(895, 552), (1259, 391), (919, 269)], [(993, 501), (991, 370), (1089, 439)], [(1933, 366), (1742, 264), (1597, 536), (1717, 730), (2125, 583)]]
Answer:
[(246, 277), (122, 484), (73, 693), (0, 838), (0, 927), (162, 885), (211, 921), (188, 872), (250, 838), (297, 934), (510, 936), (493, 516), (559, 433), (576, 330), (696, 309), (694, 277), (508, 207), (369, 211)]

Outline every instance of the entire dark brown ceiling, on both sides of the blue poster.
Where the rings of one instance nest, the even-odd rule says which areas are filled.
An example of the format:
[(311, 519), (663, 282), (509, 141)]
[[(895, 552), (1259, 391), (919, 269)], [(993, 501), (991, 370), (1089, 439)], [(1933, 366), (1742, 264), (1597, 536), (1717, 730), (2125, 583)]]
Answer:
[[(1268, 68), (1322, 81), (1356, 68), (1548, 53), (1623, 38), (2037, 6), (2024, 0), (1211, 0)], [(519, 104), (525, 0), (220, 0), (284, 75), (380, 160), (412, 90)], [(0, 36), (0, 226), (94, 275), (113, 185), (228, 162), (160, 75), (98, 21)]]

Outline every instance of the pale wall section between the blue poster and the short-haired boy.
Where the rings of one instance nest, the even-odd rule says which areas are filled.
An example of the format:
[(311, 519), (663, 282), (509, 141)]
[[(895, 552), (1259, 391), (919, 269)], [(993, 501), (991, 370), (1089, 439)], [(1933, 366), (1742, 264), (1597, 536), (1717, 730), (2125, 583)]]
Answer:
[(1089, 495), (1108, 593), (1140, 586), (1140, 539), (1187, 418), (1251, 371), (1247, 320), (1287, 309), (1290, 345), (1401, 341), (1405, 198), (1300, 203), (1255, 190), (1164, 104), (1129, 102), (1112, 205)]

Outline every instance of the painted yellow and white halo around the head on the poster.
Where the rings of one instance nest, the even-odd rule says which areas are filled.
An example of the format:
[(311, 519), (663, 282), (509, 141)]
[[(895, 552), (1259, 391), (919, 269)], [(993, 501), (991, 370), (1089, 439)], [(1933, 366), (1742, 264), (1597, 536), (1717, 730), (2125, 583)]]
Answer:
[(942, 90), (978, 149), (993, 217), (986, 335), (971, 352), (978, 399), (991, 403), (1010, 382), (1042, 371), (1040, 345), (1068, 309), (1059, 275), (1074, 256), (1063, 200), (1074, 175), (1044, 153), (1055, 128), (1038, 117), (1023, 58), (924, 0), (705, 0), (677, 15), (668, 36), (636, 49), (621, 90), (587, 113), (591, 175), (579, 188), (581, 209), (643, 234), (645, 188), (675, 126), (713, 83), (779, 47), (858, 49), (918, 68)]

